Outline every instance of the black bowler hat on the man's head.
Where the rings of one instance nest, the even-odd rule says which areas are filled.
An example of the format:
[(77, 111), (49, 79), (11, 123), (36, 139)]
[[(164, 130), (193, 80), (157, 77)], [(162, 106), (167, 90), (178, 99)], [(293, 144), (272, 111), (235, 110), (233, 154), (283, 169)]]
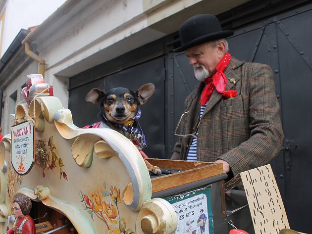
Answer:
[(190, 47), (226, 38), (234, 34), (231, 30), (222, 31), (219, 20), (210, 14), (195, 15), (186, 20), (179, 28), (181, 47), (174, 52), (181, 52)]

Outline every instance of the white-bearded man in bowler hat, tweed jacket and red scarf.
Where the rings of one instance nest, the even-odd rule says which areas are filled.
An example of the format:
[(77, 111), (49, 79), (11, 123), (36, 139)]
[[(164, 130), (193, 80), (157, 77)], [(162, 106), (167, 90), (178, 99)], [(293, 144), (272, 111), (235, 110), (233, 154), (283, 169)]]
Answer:
[(185, 100), (181, 134), (171, 159), (223, 164), (229, 178), (269, 163), (283, 132), (269, 66), (239, 61), (228, 51), (218, 19), (200, 14), (185, 21), (181, 47), (201, 83)]

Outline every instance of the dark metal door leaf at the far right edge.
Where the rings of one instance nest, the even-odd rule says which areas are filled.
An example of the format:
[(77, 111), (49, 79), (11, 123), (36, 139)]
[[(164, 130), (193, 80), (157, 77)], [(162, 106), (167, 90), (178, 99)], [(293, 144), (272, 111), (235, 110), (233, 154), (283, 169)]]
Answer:
[(285, 197), (290, 227), (312, 233), (312, 4), (276, 22), (284, 126)]

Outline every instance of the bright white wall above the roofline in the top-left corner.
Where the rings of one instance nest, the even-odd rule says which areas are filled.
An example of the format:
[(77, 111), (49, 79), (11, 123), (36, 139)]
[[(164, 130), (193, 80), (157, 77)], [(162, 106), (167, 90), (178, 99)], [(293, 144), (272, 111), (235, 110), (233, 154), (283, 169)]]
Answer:
[(1, 57), (17, 33), (40, 25), (66, 0), (7, 0)]

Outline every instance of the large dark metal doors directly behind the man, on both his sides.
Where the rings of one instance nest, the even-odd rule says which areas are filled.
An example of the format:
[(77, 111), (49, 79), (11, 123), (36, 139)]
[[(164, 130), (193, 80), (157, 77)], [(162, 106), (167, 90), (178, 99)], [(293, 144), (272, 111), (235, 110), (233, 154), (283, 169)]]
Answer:
[[(290, 227), (312, 233), (312, 4), (234, 29), (228, 39), (230, 53), (240, 59), (265, 63), (274, 73), (276, 94), (285, 134), (284, 147), (271, 165), (284, 201)], [(193, 89), (193, 68), (181, 53), (172, 55), (174, 92), (168, 109), (174, 125), (183, 110), (184, 98)], [(170, 71), (170, 70), (169, 70)], [(171, 85), (170, 85), (171, 84)], [(172, 133), (171, 128), (169, 133)], [(172, 150), (172, 145), (170, 145)]]

